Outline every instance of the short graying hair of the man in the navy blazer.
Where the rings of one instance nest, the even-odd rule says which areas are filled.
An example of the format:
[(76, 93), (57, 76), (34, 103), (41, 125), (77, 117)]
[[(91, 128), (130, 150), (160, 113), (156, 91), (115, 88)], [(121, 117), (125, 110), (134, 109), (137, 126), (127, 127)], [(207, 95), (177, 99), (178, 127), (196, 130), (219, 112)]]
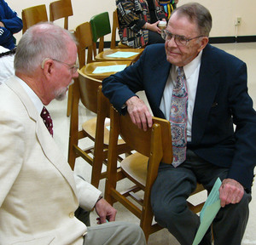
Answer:
[(191, 22), (198, 26), (199, 34), (209, 37), (212, 29), (212, 15), (209, 10), (200, 3), (187, 3), (175, 9), (172, 14), (177, 13), (179, 16), (187, 17)]

